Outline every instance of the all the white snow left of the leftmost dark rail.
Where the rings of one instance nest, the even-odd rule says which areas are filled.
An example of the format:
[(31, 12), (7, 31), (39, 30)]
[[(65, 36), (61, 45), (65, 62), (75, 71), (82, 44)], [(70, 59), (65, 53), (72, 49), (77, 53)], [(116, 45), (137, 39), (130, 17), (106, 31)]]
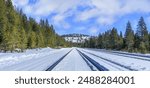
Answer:
[(0, 55), (0, 58), (3, 59), (0, 62), (0, 70), (45, 70), (69, 50), (70, 49), (52, 50), (47, 48), (39, 51), (29, 50), (25, 53), (6, 53), (5, 55)]

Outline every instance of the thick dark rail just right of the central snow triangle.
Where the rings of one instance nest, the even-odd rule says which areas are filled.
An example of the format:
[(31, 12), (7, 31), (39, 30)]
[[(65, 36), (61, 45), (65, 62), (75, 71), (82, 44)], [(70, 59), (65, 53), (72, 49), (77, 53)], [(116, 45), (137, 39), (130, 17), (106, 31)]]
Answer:
[[(91, 68), (92, 71), (94, 71), (93, 66), (96, 67), (99, 71), (108, 71), (108, 69), (104, 66), (102, 66), (101, 64), (99, 64), (98, 62), (96, 62), (95, 60), (93, 60), (92, 58), (88, 57), (87, 55), (85, 55), (84, 53), (82, 53), (81, 51), (77, 50), (79, 52), (79, 54), (81, 55), (81, 57), (85, 60), (85, 62), (88, 64), (88, 66)], [(93, 65), (90, 65), (90, 63)]]

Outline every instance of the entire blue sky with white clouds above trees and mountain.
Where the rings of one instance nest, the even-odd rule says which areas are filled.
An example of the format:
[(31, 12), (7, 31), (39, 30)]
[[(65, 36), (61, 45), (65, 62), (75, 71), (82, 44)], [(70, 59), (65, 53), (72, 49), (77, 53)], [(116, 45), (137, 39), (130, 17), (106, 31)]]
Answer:
[[(131, 22), (136, 31), (141, 16), (150, 29), (150, 0), (12, 0), (37, 22), (48, 19), (56, 33), (98, 35), (117, 28), (125, 32)], [(150, 30), (149, 30), (150, 31)]]

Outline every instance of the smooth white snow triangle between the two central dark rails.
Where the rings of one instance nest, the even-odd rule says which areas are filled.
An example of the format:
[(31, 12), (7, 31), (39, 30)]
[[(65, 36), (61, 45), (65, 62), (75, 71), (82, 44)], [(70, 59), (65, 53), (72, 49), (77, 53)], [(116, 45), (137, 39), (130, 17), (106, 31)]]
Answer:
[(73, 49), (54, 69), (54, 71), (91, 71), (76, 49)]

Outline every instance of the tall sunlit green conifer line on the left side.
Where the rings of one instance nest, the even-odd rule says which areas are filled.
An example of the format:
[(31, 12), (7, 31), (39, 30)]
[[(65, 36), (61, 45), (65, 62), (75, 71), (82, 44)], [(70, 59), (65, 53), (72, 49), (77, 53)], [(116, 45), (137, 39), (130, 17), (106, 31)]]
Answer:
[(0, 0), (0, 50), (65, 47), (67, 43), (55, 33), (48, 20), (39, 23), (17, 10), (11, 0)]

